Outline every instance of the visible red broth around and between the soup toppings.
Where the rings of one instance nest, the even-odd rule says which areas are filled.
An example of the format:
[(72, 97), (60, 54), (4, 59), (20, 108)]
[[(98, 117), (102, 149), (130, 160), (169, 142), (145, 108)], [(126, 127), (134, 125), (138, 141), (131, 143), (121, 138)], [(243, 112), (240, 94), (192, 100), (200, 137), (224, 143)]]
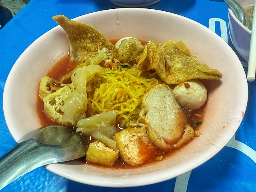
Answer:
[[(117, 40), (112, 40), (111, 42), (113, 42), (113, 44), (114, 44), (116, 41)], [(145, 41), (141, 41), (141, 42), (144, 42), (144, 44), (146, 44)], [(60, 78), (60, 76), (64, 76), (66, 74), (66, 72), (73, 70), (74, 66), (75, 66), (75, 64), (72, 61), (70, 61), (69, 55), (68, 54), (64, 55), (62, 58), (60, 58), (58, 61), (56, 61), (56, 63), (52, 66), (52, 68), (49, 70), (49, 72), (46, 74), (46, 76), (58, 80)], [(122, 92), (119, 92), (119, 94), (121, 94), (121, 93)], [(90, 105), (90, 104), (91, 103), (89, 102), (88, 105)], [(205, 114), (206, 106), (207, 106), (207, 102), (206, 102), (206, 104), (204, 104), (204, 106), (202, 106), (201, 108), (196, 109), (196, 110), (183, 109), (186, 119), (188, 120), (188, 124), (190, 124), (190, 126), (192, 126), (195, 131), (198, 131), (198, 134), (199, 134), (200, 124), (204, 121), (204, 114)], [(97, 114), (97, 112), (95, 112), (95, 109), (94, 109), (94, 113), (92, 114), (92, 112), (91, 112), (92, 109), (90, 108), (90, 106), (88, 107), (88, 109), (90, 109), (90, 111), (88, 110), (87, 117)], [(50, 119), (45, 114), (44, 102), (40, 98), (39, 94), (37, 97), (37, 113), (38, 113), (38, 118), (39, 118), (41, 126), (48, 126), (48, 125), (54, 124), (52, 119)], [(126, 128), (126, 127), (124, 126), (124, 128)], [(120, 125), (120, 122), (117, 122), (117, 124), (116, 124), (117, 132), (122, 131), (124, 128)], [(96, 141), (93, 137), (86, 136), (82, 133), (80, 135), (82, 136), (82, 138), (84, 139), (84, 141), (86, 142), (87, 145)], [(141, 147), (140, 150), (142, 153), (146, 153), (148, 151), (148, 148), (145, 146), (145, 147)], [(140, 164), (138, 166), (143, 166), (145, 164), (158, 162), (158, 161), (162, 160), (163, 158), (167, 158), (168, 156), (174, 154), (175, 152), (177, 152), (177, 149), (165, 150), (165, 149), (154, 147), (153, 149), (150, 150), (150, 155), (148, 155), (147, 160), (143, 164)], [(92, 164), (95, 166), (102, 166), (99, 163), (88, 162), (88, 161), (86, 161), (86, 158), (80, 158), (80, 160), (84, 163)], [(127, 164), (122, 159), (121, 156), (118, 156), (115, 163), (112, 165), (112, 168), (130, 168), (130, 167), (132, 167), (132, 166)]]

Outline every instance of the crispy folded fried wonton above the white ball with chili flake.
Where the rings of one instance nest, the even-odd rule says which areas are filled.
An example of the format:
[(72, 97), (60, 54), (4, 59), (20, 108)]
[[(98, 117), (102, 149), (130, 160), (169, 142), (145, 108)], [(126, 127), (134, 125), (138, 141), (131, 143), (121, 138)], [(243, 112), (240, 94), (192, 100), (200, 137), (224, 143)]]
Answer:
[(180, 84), (197, 78), (222, 78), (218, 70), (201, 64), (195, 56), (191, 56), (182, 41), (167, 41), (161, 46), (154, 43), (146, 45), (137, 68), (142, 71), (155, 70), (166, 84)]

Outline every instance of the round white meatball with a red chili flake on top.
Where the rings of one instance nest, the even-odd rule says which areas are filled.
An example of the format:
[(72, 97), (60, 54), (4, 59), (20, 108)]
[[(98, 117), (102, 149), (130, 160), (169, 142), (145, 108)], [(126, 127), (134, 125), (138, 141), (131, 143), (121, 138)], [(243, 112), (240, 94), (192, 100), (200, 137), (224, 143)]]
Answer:
[(199, 80), (190, 80), (173, 89), (176, 100), (183, 108), (194, 110), (202, 107), (207, 100), (207, 90)]

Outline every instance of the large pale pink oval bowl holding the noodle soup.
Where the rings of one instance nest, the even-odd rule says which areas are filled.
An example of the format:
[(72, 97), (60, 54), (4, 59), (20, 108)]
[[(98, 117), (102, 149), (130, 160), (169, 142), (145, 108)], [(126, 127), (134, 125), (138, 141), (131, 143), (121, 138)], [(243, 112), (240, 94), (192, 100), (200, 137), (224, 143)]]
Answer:
[[(218, 153), (236, 132), (246, 110), (248, 86), (234, 51), (211, 30), (182, 16), (142, 8), (94, 12), (75, 18), (98, 29), (107, 38), (132, 36), (154, 40), (182, 40), (200, 62), (218, 69), (220, 81), (206, 81), (208, 108), (200, 132), (169, 158), (146, 166), (116, 170), (78, 161), (50, 164), (46, 168), (68, 179), (96, 186), (130, 187), (174, 178), (203, 164)], [(8, 128), (16, 141), (40, 127), (36, 115), (38, 83), (52, 63), (69, 49), (60, 26), (33, 42), (14, 64), (4, 88), (3, 107)], [(232, 69), (232, 70), (230, 70)]]

